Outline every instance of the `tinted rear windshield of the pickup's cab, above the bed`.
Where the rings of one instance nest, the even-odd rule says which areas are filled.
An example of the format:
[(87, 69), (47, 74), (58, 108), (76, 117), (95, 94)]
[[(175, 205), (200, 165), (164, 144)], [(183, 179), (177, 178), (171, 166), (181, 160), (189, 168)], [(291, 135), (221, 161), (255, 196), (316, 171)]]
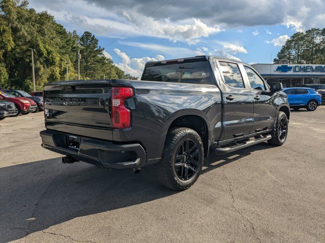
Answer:
[(207, 61), (146, 67), (141, 80), (213, 85)]

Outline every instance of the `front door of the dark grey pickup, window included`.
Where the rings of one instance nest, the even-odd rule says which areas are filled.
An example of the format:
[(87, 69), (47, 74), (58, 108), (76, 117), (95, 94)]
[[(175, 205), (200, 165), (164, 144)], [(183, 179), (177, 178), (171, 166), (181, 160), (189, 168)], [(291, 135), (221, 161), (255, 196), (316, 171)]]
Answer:
[(275, 118), (275, 106), (272, 102), (273, 94), (265, 84), (264, 79), (249, 66), (243, 66), (248, 88), (254, 101), (253, 131), (272, 129)]

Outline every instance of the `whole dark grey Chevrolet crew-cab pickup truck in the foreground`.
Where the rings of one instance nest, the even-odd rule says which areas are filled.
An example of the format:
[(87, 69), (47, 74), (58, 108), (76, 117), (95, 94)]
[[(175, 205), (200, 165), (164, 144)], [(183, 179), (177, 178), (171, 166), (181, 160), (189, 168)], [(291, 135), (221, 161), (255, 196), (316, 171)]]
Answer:
[(161, 182), (184, 190), (204, 157), (287, 137), (289, 105), (248, 64), (213, 56), (148, 62), (141, 80), (74, 80), (44, 87), (42, 146), (139, 173), (155, 164)]

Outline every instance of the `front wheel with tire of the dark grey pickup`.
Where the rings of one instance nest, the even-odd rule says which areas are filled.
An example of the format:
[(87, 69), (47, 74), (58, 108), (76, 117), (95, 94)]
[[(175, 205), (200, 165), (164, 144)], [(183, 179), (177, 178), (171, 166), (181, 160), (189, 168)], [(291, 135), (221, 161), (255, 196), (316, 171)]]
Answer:
[(275, 146), (281, 146), (284, 144), (288, 135), (288, 118), (283, 111), (279, 111), (275, 128), (270, 134), (272, 136), (272, 139), (268, 140), (269, 144)]

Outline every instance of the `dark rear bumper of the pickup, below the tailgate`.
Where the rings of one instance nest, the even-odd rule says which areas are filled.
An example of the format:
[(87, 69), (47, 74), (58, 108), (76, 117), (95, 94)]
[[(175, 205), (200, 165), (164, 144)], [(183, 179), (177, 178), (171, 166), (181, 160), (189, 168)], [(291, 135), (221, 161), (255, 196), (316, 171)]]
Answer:
[(146, 163), (144, 148), (138, 143), (115, 144), (109, 141), (80, 137), (79, 148), (68, 145), (69, 134), (52, 130), (40, 132), (42, 146), (51, 151), (71, 155), (75, 159), (112, 169), (138, 168)]

